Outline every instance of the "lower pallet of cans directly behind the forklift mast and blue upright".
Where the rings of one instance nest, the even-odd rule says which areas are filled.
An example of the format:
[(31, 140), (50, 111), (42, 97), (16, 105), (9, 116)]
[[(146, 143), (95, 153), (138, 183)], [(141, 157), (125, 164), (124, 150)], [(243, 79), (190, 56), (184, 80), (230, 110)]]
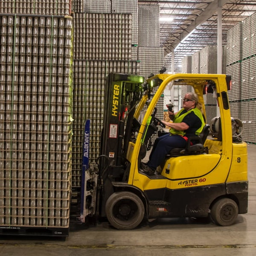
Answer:
[(108, 73), (138, 74), (140, 63), (125, 60), (85, 60), (73, 62), (73, 147), (72, 188), (81, 186), (81, 156), (83, 152), (84, 123), (90, 125), (90, 163), (96, 163), (100, 154), (100, 137), (104, 116), (105, 84)]

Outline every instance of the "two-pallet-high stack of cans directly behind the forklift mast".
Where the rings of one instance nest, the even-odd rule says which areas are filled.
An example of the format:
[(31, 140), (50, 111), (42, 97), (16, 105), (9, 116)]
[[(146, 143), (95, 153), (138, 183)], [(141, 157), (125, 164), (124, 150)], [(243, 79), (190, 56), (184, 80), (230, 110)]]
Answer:
[[(85, 10), (102, 8), (101, 2), (97, 1), (93, 5), (94, 2), (88, 1)], [(73, 14), (73, 189), (81, 186), (81, 157), (86, 119), (91, 119), (90, 163), (95, 163), (99, 157), (108, 73), (138, 73), (138, 62), (131, 61), (131, 21), (131, 14), (126, 13)]]

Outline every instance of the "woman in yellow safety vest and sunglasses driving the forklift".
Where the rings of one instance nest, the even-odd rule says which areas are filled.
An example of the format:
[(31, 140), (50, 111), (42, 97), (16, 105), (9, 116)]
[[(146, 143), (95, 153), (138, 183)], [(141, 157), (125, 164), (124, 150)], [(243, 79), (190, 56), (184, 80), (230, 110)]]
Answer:
[(173, 122), (162, 121), (170, 127), (169, 133), (155, 140), (148, 163), (141, 163), (141, 169), (148, 175), (154, 175), (172, 148), (185, 148), (188, 138), (199, 136), (205, 125), (196, 93), (186, 93), (183, 108), (176, 113), (169, 111), (169, 116)]

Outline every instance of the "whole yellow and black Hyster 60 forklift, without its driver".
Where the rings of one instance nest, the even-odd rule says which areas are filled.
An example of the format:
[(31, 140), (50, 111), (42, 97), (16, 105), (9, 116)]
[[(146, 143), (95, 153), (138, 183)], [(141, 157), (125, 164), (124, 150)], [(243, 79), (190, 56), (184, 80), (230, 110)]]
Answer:
[[(147, 143), (165, 125), (157, 102), (165, 88), (191, 86), (203, 105), (204, 95), (216, 99), (219, 116), (207, 124), (198, 142), (174, 148), (156, 175), (140, 169)], [(143, 219), (210, 216), (217, 225), (234, 224), (247, 213), (247, 144), (242, 122), (230, 116), (231, 77), (223, 74), (165, 74), (148, 79), (108, 74), (101, 150), (90, 163), (90, 120), (85, 140), (79, 221), (107, 218), (119, 230), (136, 228)], [(154, 93), (153, 93), (154, 92)], [(143, 115), (141, 114), (143, 113)]]

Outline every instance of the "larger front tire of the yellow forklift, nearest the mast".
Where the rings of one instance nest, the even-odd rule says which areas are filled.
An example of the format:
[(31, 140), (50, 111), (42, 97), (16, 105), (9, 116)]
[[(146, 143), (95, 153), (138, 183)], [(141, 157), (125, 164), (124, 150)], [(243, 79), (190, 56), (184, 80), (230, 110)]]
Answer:
[(119, 230), (131, 230), (144, 218), (145, 208), (140, 198), (132, 192), (113, 193), (106, 202), (106, 214), (110, 224)]

